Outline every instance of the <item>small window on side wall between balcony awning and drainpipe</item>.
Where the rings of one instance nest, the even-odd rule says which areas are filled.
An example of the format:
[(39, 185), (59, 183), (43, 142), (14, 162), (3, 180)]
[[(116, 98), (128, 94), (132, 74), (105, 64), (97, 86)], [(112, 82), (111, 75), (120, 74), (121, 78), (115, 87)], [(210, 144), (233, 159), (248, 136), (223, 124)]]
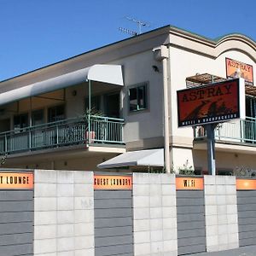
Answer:
[(129, 109), (139, 111), (147, 106), (147, 84), (138, 85), (129, 89)]

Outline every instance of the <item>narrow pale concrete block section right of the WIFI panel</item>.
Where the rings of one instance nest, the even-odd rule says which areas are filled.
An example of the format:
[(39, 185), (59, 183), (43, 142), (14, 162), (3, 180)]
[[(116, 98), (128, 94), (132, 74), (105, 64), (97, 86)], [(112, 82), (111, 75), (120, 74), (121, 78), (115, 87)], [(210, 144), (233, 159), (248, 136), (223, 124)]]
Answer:
[(205, 176), (207, 252), (239, 247), (236, 177)]

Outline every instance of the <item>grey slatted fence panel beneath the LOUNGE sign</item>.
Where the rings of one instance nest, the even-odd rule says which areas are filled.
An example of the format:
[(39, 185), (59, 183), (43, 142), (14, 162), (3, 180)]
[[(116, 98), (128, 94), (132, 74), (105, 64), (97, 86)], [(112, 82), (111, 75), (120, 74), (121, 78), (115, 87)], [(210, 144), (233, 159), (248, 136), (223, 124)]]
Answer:
[(33, 255), (33, 191), (0, 190), (0, 255)]

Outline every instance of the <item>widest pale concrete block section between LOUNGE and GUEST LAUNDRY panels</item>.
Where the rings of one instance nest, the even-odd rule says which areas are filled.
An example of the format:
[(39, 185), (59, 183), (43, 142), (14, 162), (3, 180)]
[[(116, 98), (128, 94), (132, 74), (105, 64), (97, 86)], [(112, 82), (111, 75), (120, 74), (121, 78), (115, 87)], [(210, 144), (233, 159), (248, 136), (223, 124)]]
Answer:
[(35, 170), (34, 255), (94, 255), (93, 172)]

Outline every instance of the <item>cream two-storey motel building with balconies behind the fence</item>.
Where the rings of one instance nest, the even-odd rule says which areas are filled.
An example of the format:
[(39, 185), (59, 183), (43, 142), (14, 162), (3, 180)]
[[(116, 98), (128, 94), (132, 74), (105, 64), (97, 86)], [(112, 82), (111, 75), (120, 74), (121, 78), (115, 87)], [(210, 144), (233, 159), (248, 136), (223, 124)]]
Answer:
[[(167, 47), (166, 75), (153, 51), (160, 45)], [(125, 151), (164, 148), (166, 82), (172, 169), (205, 172), (206, 133), (177, 127), (177, 90), (240, 73), (247, 118), (215, 129), (216, 166), (218, 173), (256, 170), (255, 61), (255, 42), (244, 35), (212, 40), (164, 26), (4, 80), (2, 167), (96, 170)]]

